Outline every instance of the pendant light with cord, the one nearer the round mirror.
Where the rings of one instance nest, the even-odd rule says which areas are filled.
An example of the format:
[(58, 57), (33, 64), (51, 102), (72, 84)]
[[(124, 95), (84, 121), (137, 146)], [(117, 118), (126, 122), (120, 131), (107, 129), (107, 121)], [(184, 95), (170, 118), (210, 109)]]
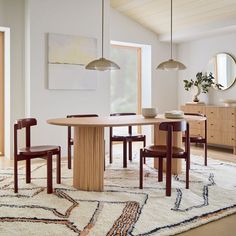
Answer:
[(159, 64), (156, 69), (167, 70), (167, 71), (186, 69), (186, 66), (183, 63), (176, 61), (172, 58), (172, 0), (171, 0), (171, 18), (170, 18), (170, 47), (171, 47), (170, 59), (168, 61), (164, 61), (161, 64)]

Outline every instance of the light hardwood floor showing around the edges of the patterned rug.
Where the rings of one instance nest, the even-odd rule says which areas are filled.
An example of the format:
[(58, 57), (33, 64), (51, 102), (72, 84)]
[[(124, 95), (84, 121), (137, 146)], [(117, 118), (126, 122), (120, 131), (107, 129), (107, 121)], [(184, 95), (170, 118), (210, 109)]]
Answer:
[[(203, 148), (191, 146), (191, 153), (195, 155), (203, 155)], [(227, 162), (236, 163), (236, 155), (232, 154), (232, 150), (220, 149), (220, 148), (208, 148), (208, 156), (214, 159), (223, 160)], [(24, 164), (24, 162), (22, 162)], [(13, 161), (4, 160), (0, 157), (0, 168), (13, 166)], [(235, 173), (236, 174), (236, 173)], [(200, 227), (191, 229), (187, 232), (178, 234), (179, 236), (234, 236), (236, 232), (236, 214), (224, 217), (217, 221), (210, 222)]]

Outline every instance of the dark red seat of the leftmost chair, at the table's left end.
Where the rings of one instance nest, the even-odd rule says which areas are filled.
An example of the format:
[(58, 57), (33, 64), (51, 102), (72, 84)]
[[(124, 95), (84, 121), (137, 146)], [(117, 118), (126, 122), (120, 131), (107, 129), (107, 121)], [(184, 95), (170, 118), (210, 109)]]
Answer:
[(52, 152), (53, 154), (58, 153), (60, 151), (59, 146), (50, 146), (50, 145), (44, 145), (44, 146), (32, 146), (32, 147), (26, 147), (19, 149), (20, 155), (35, 155), (35, 156), (43, 156), (47, 155), (47, 152)]

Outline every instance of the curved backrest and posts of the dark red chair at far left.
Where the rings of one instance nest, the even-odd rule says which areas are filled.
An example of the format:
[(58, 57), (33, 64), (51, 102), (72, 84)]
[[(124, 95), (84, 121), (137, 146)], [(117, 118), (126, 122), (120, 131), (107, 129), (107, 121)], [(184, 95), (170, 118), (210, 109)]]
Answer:
[(25, 118), (19, 119), (14, 124), (14, 155), (17, 155), (18, 149), (18, 138), (17, 130), (25, 128), (25, 145), (30, 147), (30, 127), (37, 125), (37, 120), (35, 118)]

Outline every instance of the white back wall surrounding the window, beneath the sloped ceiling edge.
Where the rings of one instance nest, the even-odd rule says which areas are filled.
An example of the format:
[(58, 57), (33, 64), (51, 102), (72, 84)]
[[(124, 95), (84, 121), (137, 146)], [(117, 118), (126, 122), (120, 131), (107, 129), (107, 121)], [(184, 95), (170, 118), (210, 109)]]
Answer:
[[(152, 106), (160, 112), (177, 108), (176, 72), (156, 70), (157, 65), (169, 59), (169, 43), (160, 43), (157, 35), (111, 8), (111, 40), (147, 44), (152, 48)], [(168, 91), (168, 92), (167, 92)]]

